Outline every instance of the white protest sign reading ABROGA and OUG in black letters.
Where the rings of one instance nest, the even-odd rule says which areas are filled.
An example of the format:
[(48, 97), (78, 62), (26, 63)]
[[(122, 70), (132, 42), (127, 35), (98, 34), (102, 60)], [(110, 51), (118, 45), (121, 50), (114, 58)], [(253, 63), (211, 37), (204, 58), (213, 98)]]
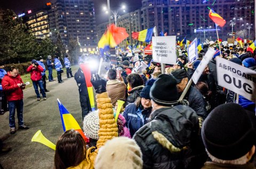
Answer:
[(216, 59), (216, 66), (218, 85), (255, 102), (256, 71), (220, 57)]

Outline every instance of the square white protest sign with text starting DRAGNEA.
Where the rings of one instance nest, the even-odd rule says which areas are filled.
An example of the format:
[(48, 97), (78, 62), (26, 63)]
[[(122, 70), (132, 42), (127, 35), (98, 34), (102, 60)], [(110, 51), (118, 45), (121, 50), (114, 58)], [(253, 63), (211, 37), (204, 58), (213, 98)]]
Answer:
[(152, 37), (153, 60), (174, 65), (176, 63), (176, 36)]

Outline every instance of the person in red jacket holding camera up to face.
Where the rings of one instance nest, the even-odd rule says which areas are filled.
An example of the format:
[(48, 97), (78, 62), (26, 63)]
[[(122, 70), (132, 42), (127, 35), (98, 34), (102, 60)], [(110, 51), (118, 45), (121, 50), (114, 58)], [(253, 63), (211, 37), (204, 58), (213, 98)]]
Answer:
[(28, 67), (27, 72), (30, 72), (30, 78), (33, 82), (33, 86), (35, 88), (37, 101), (40, 101), (41, 95), (38, 91), (38, 86), (41, 90), (44, 100), (46, 100), (46, 93), (44, 91), (43, 81), (42, 81), (42, 74), (41, 72), (44, 71), (44, 68), (38, 65), (36, 60), (32, 60), (32, 64)]

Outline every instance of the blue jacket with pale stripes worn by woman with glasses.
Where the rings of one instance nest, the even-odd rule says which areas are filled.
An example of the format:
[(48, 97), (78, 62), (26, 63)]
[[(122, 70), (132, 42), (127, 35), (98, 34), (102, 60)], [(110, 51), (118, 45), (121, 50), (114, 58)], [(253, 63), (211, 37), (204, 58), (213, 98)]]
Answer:
[(126, 120), (125, 125), (129, 128), (131, 136), (133, 136), (140, 127), (148, 123), (151, 111), (152, 108), (143, 109), (141, 105), (137, 108), (135, 103), (130, 103), (125, 107), (123, 116)]

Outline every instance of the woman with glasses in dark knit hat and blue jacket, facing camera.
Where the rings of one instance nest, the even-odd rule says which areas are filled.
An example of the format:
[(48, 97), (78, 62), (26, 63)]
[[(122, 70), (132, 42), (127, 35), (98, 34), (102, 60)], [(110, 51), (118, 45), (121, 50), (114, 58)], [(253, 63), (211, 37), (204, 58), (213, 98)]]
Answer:
[(147, 85), (142, 88), (140, 96), (134, 103), (125, 107), (123, 116), (126, 120), (126, 127), (129, 128), (131, 136), (139, 130), (140, 127), (148, 123), (152, 111), (151, 100), (149, 96), (150, 88), (155, 79), (148, 81)]

